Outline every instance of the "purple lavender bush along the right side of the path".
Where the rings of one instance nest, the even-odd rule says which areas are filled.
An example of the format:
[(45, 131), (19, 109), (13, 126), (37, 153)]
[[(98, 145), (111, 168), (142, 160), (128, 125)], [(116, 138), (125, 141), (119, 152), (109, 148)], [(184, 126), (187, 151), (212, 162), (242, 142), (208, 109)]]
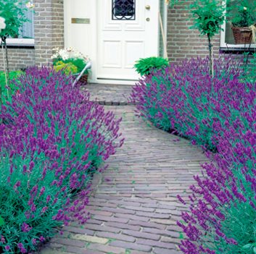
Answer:
[(141, 82), (131, 95), (140, 101), (139, 116), (218, 151), (207, 151), (213, 159), (202, 165), (205, 177), (194, 177), (191, 215), (177, 222), (189, 237), (183, 253), (256, 253), (256, 84), (239, 79), (239, 67), (233, 56), (218, 59), (211, 79), (207, 60), (186, 60)]

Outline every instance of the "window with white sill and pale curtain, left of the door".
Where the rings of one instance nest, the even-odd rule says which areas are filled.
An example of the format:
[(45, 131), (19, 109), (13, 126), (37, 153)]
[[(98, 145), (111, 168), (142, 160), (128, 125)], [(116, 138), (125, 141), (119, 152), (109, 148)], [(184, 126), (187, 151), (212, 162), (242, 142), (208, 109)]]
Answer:
[[(26, 8), (25, 4), (21, 6), (22, 8)], [(7, 38), (7, 45), (28, 45), (33, 46), (34, 44), (34, 18), (33, 12), (28, 10), (25, 13), (25, 17), (27, 17), (31, 22), (24, 22), (22, 27), (20, 27), (19, 35), (14, 38)]]

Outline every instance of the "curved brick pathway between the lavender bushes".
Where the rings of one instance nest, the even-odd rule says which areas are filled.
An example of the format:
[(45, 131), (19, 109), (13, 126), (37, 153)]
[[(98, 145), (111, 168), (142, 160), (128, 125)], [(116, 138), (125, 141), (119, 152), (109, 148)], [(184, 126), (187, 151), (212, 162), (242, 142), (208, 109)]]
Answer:
[(183, 235), (176, 221), (189, 209), (176, 195), (189, 200), (204, 154), (188, 140), (177, 142), (176, 136), (141, 122), (133, 106), (105, 107), (123, 117), (125, 144), (107, 160), (108, 169), (94, 177), (86, 208), (92, 218), (83, 227), (64, 227), (64, 234), (40, 253), (181, 253)]

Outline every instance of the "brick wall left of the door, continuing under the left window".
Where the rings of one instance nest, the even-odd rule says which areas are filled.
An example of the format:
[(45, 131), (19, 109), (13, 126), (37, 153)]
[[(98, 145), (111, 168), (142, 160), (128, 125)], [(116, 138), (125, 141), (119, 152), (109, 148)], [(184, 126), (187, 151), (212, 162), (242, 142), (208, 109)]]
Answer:
[[(63, 0), (34, 0), (35, 47), (8, 47), (9, 69), (51, 63), (52, 49), (64, 47)], [(1, 49), (0, 49), (1, 52)], [(4, 70), (2, 52), (0, 71)]]

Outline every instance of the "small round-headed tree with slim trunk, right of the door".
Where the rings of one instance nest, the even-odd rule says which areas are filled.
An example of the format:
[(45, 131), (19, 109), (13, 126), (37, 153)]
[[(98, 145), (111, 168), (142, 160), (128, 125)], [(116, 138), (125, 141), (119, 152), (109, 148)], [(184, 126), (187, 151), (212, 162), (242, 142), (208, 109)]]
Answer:
[(175, 4), (183, 5), (183, 9), (189, 11), (189, 17), (186, 19), (194, 23), (190, 29), (198, 30), (200, 35), (207, 35), (209, 58), (210, 58), (210, 75), (212, 73), (212, 38), (218, 34), (228, 14), (228, 3), (230, 0), (203, 0), (203, 1), (167, 1), (172, 8)]

